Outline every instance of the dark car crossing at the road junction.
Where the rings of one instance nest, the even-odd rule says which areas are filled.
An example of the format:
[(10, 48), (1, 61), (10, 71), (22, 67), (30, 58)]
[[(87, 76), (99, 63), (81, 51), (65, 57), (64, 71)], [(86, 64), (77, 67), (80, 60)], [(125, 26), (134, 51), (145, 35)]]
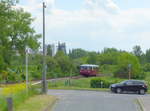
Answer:
[(121, 83), (112, 84), (110, 90), (115, 93), (138, 92), (139, 94), (145, 94), (147, 92), (147, 85), (144, 81), (140, 80), (126, 80)]

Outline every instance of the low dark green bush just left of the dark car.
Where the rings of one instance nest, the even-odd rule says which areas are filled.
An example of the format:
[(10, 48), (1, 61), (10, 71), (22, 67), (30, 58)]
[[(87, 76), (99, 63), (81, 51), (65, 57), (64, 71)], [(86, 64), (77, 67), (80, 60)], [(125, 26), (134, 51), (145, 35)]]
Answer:
[(111, 78), (111, 77), (100, 77), (91, 79), (90, 85), (91, 88), (109, 88), (111, 84), (118, 83), (123, 81), (123, 79), (119, 78)]

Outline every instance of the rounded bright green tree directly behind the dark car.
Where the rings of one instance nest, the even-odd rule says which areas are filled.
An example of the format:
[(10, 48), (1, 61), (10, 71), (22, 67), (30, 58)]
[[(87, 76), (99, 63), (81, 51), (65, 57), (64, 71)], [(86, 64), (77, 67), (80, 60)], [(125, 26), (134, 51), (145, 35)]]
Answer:
[(117, 59), (117, 68), (114, 71), (115, 77), (128, 78), (129, 64), (131, 64), (132, 79), (144, 77), (138, 58), (127, 52), (121, 53)]

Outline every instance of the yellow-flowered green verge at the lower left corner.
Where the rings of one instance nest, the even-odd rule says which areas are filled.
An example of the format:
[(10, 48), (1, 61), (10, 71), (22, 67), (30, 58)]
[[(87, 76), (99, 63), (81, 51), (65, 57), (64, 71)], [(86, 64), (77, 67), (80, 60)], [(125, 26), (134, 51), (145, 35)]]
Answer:
[(0, 111), (7, 111), (7, 97), (11, 97), (13, 99), (13, 110), (16, 111), (16, 108), (25, 100), (40, 94), (40, 91), (35, 87), (30, 87), (27, 91), (26, 88), (20, 88), (20, 86), (21, 85), (18, 84), (15, 86), (4, 87), (0, 94)]

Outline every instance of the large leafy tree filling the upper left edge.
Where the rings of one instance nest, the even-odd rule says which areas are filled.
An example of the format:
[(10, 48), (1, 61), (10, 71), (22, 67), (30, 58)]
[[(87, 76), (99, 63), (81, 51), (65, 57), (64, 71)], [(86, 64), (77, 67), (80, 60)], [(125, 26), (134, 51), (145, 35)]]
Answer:
[[(37, 50), (41, 37), (31, 27), (34, 20), (31, 14), (23, 9), (14, 9), (12, 6), (15, 3), (16, 0), (0, 1), (0, 74), (7, 76), (11, 76), (7, 69), (11, 68), (12, 57), (18, 54), (24, 56), (26, 46)], [(21, 61), (19, 63), (21, 65)]]

